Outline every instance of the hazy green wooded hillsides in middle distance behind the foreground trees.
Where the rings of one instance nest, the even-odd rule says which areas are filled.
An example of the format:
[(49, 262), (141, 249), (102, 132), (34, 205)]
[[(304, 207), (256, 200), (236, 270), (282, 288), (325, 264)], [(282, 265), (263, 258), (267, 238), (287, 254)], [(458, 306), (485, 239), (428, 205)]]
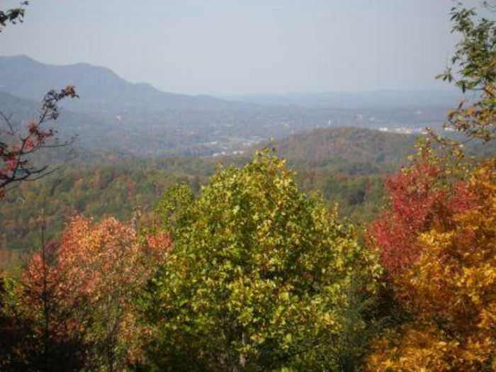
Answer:
[[(273, 145), (295, 169), (300, 187), (310, 193), (322, 193), (329, 205), (339, 203), (343, 215), (366, 222), (380, 208), (383, 175), (399, 169), (405, 152), (412, 152), (413, 143), (412, 136), (342, 128), (295, 135)], [(383, 157), (386, 147), (389, 155)], [(337, 157), (339, 152), (344, 157)], [(36, 247), (40, 210), (45, 213), (50, 234), (60, 231), (64, 220), (74, 213), (97, 220), (108, 215), (128, 219), (137, 207), (142, 213), (150, 213), (162, 193), (175, 182), (186, 182), (198, 192), (216, 165), (249, 162), (249, 157), (119, 159), (113, 154), (93, 152), (78, 155), (63, 171), (40, 182), (24, 184), (6, 197), (1, 213), (2, 247)], [(109, 159), (112, 164), (108, 164)]]

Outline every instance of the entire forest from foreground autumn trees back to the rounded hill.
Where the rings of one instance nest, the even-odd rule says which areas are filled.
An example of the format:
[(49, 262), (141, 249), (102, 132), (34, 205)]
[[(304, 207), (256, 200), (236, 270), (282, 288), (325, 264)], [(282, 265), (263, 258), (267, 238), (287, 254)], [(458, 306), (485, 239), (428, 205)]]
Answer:
[(451, 21), (446, 130), (74, 159), (77, 86), (0, 112), (0, 371), (495, 371), (496, 23)]

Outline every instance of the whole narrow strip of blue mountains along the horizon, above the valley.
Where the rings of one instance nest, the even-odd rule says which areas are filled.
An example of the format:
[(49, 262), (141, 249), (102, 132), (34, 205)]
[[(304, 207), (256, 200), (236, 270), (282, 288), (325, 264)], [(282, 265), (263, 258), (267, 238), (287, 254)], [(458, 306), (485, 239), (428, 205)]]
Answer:
[(53, 65), (25, 55), (0, 57), (0, 90), (14, 96), (38, 100), (49, 89), (67, 84), (77, 86), (84, 97), (74, 107), (81, 111), (226, 110), (243, 107), (247, 102), (313, 108), (451, 107), (459, 98), (456, 91), (440, 90), (252, 94), (220, 99), (159, 91), (150, 84), (125, 81), (106, 67), (86, 63)]

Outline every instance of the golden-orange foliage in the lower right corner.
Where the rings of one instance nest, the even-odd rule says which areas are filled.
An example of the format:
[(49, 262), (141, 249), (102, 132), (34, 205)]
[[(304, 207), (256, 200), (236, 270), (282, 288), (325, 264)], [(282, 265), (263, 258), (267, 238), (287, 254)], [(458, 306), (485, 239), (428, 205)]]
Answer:
[(470, 208), (419, 236), (422, 253), (401, 278), (416, 320), (376, 342), (368, 371), (496, 370), (495, 165), (473, 171)]

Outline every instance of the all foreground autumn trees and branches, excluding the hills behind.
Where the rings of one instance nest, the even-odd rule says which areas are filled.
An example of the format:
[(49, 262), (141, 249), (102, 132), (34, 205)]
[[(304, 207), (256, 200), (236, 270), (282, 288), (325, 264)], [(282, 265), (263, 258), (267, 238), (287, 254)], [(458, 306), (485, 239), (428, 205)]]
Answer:
[[(0, 30), (22, 16), (0, 11)], [(479, 96), (446, 125), (484, 144), (496, 23), (458, 8), (452, 21), (459, 70), (441, 77)], [(0, 198), (46, 174), (30, 162), (55, 140), (41, 125), (76, 96), (50, 91), (25, 134), (3, 116)], [(75, 215), (54, 241), (43, 226), (21, 275), (0, 278), (0, 370), (496, 371), (496, 157), (462, 145), (419, 142), (363, 237), (268, 149), (167, 188), (149, 225)]]

